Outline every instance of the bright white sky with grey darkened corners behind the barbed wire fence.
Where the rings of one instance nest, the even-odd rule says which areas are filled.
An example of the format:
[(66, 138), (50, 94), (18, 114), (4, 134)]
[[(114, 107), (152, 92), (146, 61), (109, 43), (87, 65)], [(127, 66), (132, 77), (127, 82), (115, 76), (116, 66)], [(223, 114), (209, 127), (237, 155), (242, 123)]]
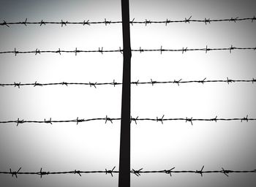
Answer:
[[(256, 2), (130, 0), (132, 20), (252, 18)], [(0, 1), (0, 22), (121, 20), (121, 1)], [(131, 26), (132, 49), (255, 47), (256, 22), (170, 23)], [(121, 24), (0, 26), (0, 51), (104, 50), (122, 47)], [(132, 53), (132, 81), (249, 80), (253, 50)], [(121, 82), (121, 53), (5, 54), (0, 83)], [(132, 85), (132, 117), (256, 117), (255, 84)], [(121, 85), (0, 87), (0, 121), (120, 118)], [(132, 169), (256, 169), (255, 122), (139, 122), (131, 125)], [(14, 123), (0, 126), (0, 170), (23, 172), (118, 170), (120, 122)], [(255, 174), (143, 174), (131, 186), (255, 186)], [(118, 175), (0, 175), (0, 186), (118, 186)]]

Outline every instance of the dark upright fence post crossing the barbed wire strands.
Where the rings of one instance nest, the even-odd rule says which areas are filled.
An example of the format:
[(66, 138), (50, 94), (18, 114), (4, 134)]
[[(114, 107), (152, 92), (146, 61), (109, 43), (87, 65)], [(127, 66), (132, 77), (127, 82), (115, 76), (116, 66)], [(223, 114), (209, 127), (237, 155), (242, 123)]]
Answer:
[(121, 99), (121, 137), (119, 156), (119, 187), (130, 186), (130, 105), (131, 105), (131, 45), (129, 37), (129, 0), (121, 0), (123, 28), (123, 85)]

